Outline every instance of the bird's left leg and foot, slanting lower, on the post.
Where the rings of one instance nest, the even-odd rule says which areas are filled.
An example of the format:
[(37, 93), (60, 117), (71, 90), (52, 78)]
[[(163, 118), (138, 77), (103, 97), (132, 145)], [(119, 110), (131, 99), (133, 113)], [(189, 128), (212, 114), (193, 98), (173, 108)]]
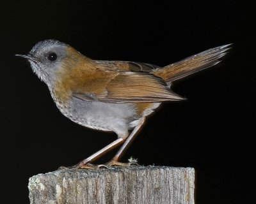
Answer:
[(125, 142), (125, 138), (127, 138), (127, 136), (120, 136), (114, 142), (111, 142), (106, 147), (104, 147), (104, 148), (100, 149), (99, 151), (95, 152), (90, 157), (87, 157), (86, 159), (84, 159), (83, 161), (81, 161), (80, 163), (76, 164), (73, 167), (74, 168), (89, 168), (89, 169), (91, 169), (91, 168), (100, 168), (100, 167), (108, 168), (107, 166), (104, 166), (104, 165), (93, 165), (93, 164), (88, 164), (88, 163), (92, 163), (93, 161), (95, 161), (96, 159), (98, 159), (102, 155), (106, 154), (110, 150), (115, 149), (119, 145), (122, 145), (122, 143)]

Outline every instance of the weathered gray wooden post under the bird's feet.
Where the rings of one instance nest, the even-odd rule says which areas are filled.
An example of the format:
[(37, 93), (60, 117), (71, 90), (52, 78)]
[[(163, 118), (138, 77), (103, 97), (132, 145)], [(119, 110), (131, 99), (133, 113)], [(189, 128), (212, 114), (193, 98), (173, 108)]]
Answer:
[(57, 170), (29, 179), (31, 204), (194, 204), (193, 168), (131, 166)]

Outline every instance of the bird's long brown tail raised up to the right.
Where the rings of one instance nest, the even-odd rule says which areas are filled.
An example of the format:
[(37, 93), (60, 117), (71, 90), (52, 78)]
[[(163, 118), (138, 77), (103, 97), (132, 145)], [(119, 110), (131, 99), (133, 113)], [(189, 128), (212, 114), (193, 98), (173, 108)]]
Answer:
[(153, 73), (157, 77), (163, 78), (167, 83), (171, 83), (218, 64), (220, 58), (227, 54), (226, 51), (230, 49), (230, 45), (232, 44), (211, 48), (199, 54), (187, 57), (182, 61), (165, 66), (162, 69), (156, 69)]

